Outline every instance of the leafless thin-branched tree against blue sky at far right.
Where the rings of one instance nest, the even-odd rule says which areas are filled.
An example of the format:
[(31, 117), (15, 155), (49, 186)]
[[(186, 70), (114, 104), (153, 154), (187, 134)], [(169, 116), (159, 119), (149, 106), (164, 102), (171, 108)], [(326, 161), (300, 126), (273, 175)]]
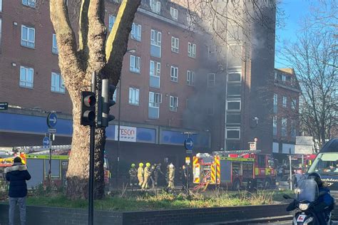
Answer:
[(332, 32), (305, 26), (296, 43), (286, 46), (285, 59), (295, 68), (302, 88), (300, 119), (303, 131), (322, 147), (337, 127), (337, 39)]

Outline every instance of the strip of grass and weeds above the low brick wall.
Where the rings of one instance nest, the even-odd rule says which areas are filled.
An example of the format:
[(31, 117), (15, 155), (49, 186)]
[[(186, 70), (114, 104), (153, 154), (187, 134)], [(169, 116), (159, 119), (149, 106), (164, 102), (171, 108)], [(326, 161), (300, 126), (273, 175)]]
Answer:
[[(274, 204), (283, 200), (282, 194), (289, 192), (259, 191), (257, 194), (246, 192), (206, 192), (185, 197), (183, 194), (173, 195), (158, 193), (126, 193), (123, 197), (116, 194), (94, 202), (95, 209), (109, 211), (145, 211), (158, 209), (189, 209), (220, 206), (247, 206), (258, 204)], [(38, 194), (27, 198), (27, 205), (54, 206), (65, 208), (87, 208), (86, 199), (70, 200), (63, 194)]]

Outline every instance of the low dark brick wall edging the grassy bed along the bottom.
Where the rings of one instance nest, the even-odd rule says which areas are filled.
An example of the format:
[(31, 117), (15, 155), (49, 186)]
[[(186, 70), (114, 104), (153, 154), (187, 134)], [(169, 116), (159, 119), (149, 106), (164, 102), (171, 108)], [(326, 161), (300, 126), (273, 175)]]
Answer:
[[(286, 204), (264, 206), (234, 206), (205, 209), (177, 209), (160, 211), (95, 211), (94, 224), (200, 224), (205, 222), (254, 219), (284, 216)], [(0, 204), (1, 223), (8, 223), (7, 204)], [(86, 224), (87, 209), (63, 209), (27, 206), (27, 225)], [(19, 219), (16, 210), (16, 219)]]

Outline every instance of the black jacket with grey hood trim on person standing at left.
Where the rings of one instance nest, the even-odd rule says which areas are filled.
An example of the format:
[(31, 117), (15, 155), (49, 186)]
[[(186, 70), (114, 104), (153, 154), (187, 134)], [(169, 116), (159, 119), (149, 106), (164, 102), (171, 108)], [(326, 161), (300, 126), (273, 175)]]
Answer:
[(31, 179), (31, 174), (24, 164), (14, 164), (6, 167), (6, 180), (9, 181), (9, 197), (22, 198), (27, 195), (26, 180)]

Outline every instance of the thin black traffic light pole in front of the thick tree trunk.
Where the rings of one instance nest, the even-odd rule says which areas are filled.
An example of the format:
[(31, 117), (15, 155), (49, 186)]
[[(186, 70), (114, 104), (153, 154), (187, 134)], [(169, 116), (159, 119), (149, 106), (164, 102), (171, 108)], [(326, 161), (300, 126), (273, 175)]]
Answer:
[[(91, 77), (91, 91), (96, 93), (96, 73)], [(95, 149), (95, 124), (91, 125), (89, 149), (89, 196), (88, 196), (88, 224), (94, 224), (94, 149)]]

